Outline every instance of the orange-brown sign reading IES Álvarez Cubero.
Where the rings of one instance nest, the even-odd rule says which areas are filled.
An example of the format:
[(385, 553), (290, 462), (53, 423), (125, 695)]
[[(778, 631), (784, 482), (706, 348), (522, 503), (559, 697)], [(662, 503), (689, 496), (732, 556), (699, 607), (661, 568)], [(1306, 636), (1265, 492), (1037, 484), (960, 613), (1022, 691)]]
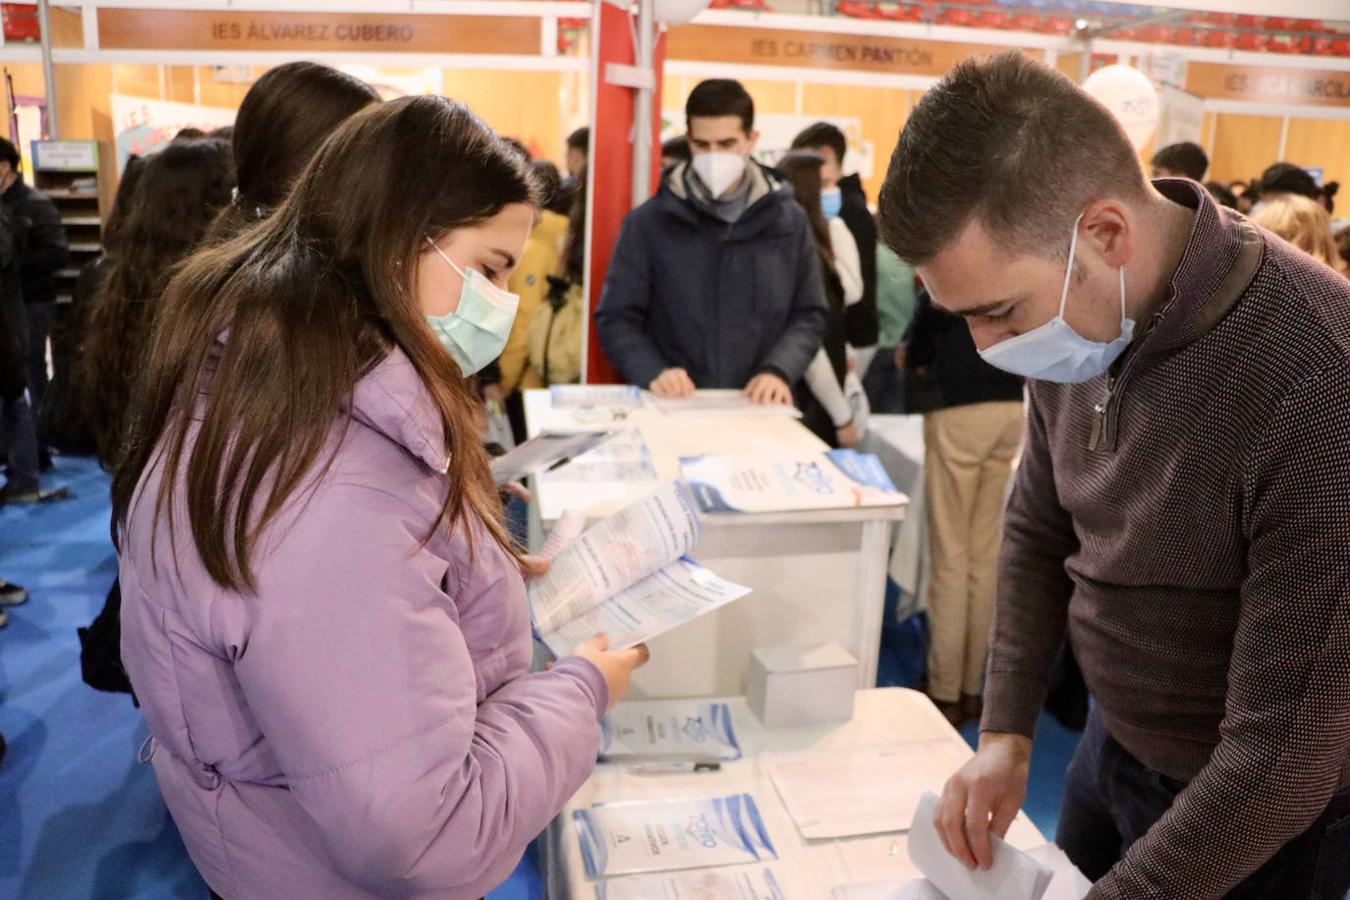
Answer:
[(531, 16), (99, 9), (107, 50), (338, 50), (537, 55)]

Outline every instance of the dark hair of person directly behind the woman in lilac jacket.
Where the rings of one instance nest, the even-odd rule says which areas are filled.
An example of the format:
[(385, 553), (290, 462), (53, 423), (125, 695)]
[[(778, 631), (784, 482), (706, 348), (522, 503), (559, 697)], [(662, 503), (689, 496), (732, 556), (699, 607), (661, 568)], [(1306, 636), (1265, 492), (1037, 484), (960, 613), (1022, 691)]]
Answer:
[(324, 139), (373, 103), (379, 93), (369, 84), (317, 62), (288, 62), (263, 73), (235, 116), (239, 193), (212, 237), (232, 237), (270, 215)]

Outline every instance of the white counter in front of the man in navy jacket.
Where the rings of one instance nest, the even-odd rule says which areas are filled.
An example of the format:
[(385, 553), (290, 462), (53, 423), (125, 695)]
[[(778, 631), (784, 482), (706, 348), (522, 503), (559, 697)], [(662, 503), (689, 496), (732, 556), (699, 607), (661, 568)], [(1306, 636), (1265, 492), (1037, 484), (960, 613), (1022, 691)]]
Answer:
[[(525, 393), (525, 417), (531, 437), (597, 425), (554, 409), (547, 391)], [(801, 422), (775, 414), (666, 414), (648, 403), (613, 426), (641, 430), (660, 480), (532, 479), (532, 548), (566, 509), (603, 518), (679, 479), (680, 456), (810, 456), (826, 449)], [(905, 505), (701, 515), (694, 559), (753, 592), (652, 641), (652, 661), (633, 679), (634, 699), (744, 694), (753, 648), (828, 641), (857, 657), (859, 687), (876, 684), (891, 524), (903, 517)]]

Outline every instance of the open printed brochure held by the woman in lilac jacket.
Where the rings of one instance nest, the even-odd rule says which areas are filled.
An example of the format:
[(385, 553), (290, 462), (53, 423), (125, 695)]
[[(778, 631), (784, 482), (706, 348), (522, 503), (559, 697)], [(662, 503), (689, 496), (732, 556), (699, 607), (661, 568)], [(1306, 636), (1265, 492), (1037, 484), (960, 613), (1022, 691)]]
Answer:
[(564, 656), (595, 634), (626, 649), (749, 594), (684, 556), (698, 514), (670, 483), (587, 529), (529, 584), (535, 631)]

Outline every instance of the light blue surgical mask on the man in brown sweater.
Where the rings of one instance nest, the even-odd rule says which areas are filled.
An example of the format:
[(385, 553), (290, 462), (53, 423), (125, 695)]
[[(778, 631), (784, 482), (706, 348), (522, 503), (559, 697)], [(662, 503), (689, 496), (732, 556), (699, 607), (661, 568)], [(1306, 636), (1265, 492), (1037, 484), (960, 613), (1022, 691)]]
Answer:
[(1069, 242), (1069, 264), (1060, 291), (1060, 314), (1038, 328), (1002, 340), (980, 351), (990, 366), (1014, 375), (1061, 385), (1080, 385), (1111, 368), (1125, 348), (1134, 340), (1134, 320), (1125, 314), (1125, 267), (1120, 267), (1120, 336), (1102, 343), (1083, 337), (1064, 318), (1069, 301), (1069, 282), (1073, 279), (1073, 254), (1079, 247), (1080, 215), (1073, 220), (1073, 239)]

